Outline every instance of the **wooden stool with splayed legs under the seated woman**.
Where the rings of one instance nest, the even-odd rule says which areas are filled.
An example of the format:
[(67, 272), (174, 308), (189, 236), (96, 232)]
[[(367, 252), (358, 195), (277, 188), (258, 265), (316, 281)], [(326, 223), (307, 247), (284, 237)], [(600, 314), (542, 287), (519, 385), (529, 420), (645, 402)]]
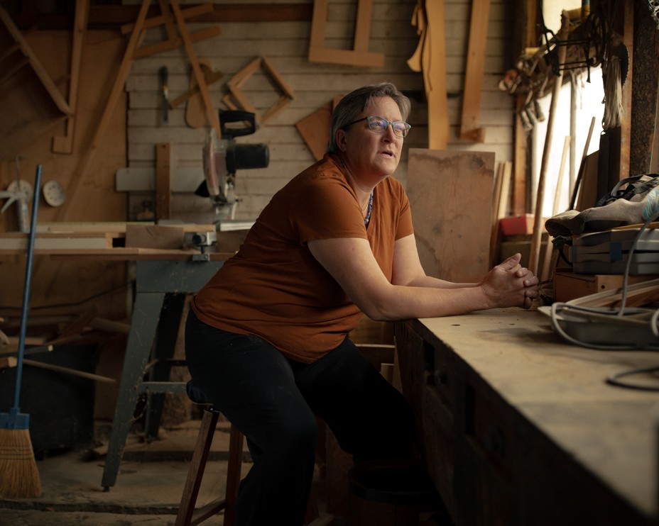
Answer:
[[(187, 480), (185, 481), (183, 496), (181, 497), (178, 514), (176, 515), (175, 526), (197, 525), (221, 510), (224, 510), (224, 526), (234, 526), (236, 522), (235, 506), (241, 479), (244, 437), (234, 425), (231, 426), (231, 435), (229, 437), (227, 489), (224, 497), (212, 500), (200, 508), (195, 508), (218, 417), (218, 410), (210, 406), (204, 409), (199, 435), (197, 435), (197, 443), (195, 444), (195, 451), (192, 453), (190, 469), (187, 471)], [(309, 499), (307, 513), (305, 515), (305, 525), (327, 526), (333, 520), (334, 517), (332, 515), (324, 514), (320, 516), (315, 505), (315, 500), (312, 498)]]

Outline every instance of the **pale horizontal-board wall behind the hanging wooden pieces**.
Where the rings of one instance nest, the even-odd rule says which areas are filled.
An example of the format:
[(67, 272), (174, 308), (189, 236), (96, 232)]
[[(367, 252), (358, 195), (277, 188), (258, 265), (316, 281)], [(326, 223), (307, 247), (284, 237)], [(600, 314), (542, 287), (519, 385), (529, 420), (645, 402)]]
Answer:
[[(263, 1), (273, 4), (272, 0)], [(129, 3), (129, 2), (125, 2)], [(139, 1), (131, 0), (138, 4)], [(232, 3), (215, 1), (215, 4)], [(256, 3), (256, 2), (253, 2)], [(281, 3), (290, 4), (290, 0)], [(307, 2), (301, 2), (307, 4)], [(354, 0), (329, 1), (325, 46), (332, 49), (352, 49)], [(511, 67), (515, 55), (511, 50), (513, 13), (511, 2), (491, 2), (486, 40), (486, 58), (481, 97), (480, 124), (483, 142), (459, 140), (459, 126), (464, 89), (464, 70), (467, 62), (467, 43), (471, 16), (469, 0), (445, 2), (446, 67), (448, 107), (451, 124), (449, 148), (495, 152), (496, 162), (512, 160), (513, 99), (497, 88), (503, 72)], [(252, 60), (266, 57), (278, 75), (293, 91), (295, 99), (274, 118), (261, 125), (253, 135), (237, 138), (239, 143), (265, 143), (269, 147), (267, 168), (243, 169), (236, 174), (236, 196), (241, 202), (236, 208), (237, 219), (255, 218), (271, 196), (288, 180), (314, 162), (295, 123), (334, 97), (371, 82), (388, 80), (405, 91), (412, 99), (409, 118), (413, 126), (405, 140), (405, 149), (396, 177), (406, 184), (407, 151), (409, 147), (425, 148), (427, 142), (427, 106), (424, 101), (422, 75), (413, 72), (407, 60), (413, 55), (419, 37), (412, 25), (415, 0), (374, 0), (371, 16), (369, 50), (385, 55), (382, 67), (355, 67), (312, 63), (308, 60), (311, 33), (310, 21), (290, 22), (232, 22), (218, 24), (189, 24), (190, 32), (217, 25), (220, 34), (195, 43), (197, 57), (205, 59), (214, 72), (222, 75), (209, 86), (212, 102), (217, 109), (227, 109), (223, 102), (227, 82)], [(163, 26), (148, 30), (143, 45), (166, 38)], [(173, 101), (190, 87), (190, 60), (183, 47), (136, 60), (126, 83), (128, 94), (127, 155), (129, 169), (153, 168), (156, 145), (169, 142), (172, 152), (172, 171), (199, 170), (198, 182), (203, 181), (202, 147), (207, 127), (192, 128), (187, 123), (187, 103), (168, 111), (168, 123), (163, 123), (162, 91), (159, 71), (168, 70), (168, 96)], [(242, 87), (244, 96), (261, 114), (278, 99), (272, 78), (261, 68)], [(144, 203), (155, 206), (150, 191), (131, 191), (129, 219), (145, 211)], [(193, 191), (175, 193), (172, 218), (190, 223), (209, 223), (213, 219), (212, 206), (207, 198), (195, 196)]]

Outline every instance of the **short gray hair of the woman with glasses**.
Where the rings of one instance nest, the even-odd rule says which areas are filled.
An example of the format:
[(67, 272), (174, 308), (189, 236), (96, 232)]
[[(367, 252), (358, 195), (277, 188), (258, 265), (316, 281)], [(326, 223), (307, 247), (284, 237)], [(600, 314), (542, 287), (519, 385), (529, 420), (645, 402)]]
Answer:
[(391, 82), (380, 82), (364, 86), (343, 97), (332, 112), (332, 125), (329, 128), (329, 142), (327, 142), (327, 153), (334, 153), (337, 146), (337, 130), (344, 128), (359, 115), (371, 100), (378, 97), (391, 97), (401, 110), (403, 121), (407, 121), (410, 114), (410, 99), (403, 95)]

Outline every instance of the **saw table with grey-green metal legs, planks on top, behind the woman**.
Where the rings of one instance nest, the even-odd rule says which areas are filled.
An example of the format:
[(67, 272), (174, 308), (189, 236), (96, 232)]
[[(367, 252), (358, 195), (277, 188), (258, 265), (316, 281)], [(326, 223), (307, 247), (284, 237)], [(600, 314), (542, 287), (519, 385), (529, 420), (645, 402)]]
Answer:
[[(165, 393), (185, 393), (185, 382), (170, 381), (171, 368), (185, 366), (185, 360), (173, 359), (185, 297), (199, 291), (234, 254), (204, 254), (196, 249), (114, 247), (112, 240), (123, 235), (126, 229), (125, 224), (117, 226), (119, 231), (88, 230), (76, 225), (82, 231), (72, 228), (58, 233), (38, 233), (41, 245), (36, 244), (34, 251), (36, 255), (55, 260), (116, 261), (135, 265), (131, 328), (101, 481), (105, 490), (116, 483), (140, 396), (147, 397), (145, 435), (146, 440), (151, 440), (158, 435)], [(0, 235), (4, 241), (0, 255), (23, 254), (26, 237), (24, 233)], [(85, 248), (90, 245), (92, 248)]]

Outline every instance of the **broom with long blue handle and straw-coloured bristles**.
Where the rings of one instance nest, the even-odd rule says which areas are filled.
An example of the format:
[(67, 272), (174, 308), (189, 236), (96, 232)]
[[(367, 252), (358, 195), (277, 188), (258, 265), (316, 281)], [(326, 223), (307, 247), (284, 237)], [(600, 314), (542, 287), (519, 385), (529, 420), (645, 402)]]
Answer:
[(18, 358), (16, 359), (16, 389), (13, 407), (9, 413), (0, 413), (0, 497), (31, 498), (41, 494), (39, 471), (34, 459), (30, 440), (30, 415), (21, 413), (18, 401), (21, 395), (23, 376), (23, 354), (28, 325), (28, 303), (32, 281), (32, 259), (34, 235), (36, 233), (39, 188), (41, 186), (41, 165), (37, 166), (32, 201), (32, 218), (28, 236), (28, 258), (26, 262), (25, 286), (23, 287), (23, 309), (21, 311), (21, 335), (18, 338)]

